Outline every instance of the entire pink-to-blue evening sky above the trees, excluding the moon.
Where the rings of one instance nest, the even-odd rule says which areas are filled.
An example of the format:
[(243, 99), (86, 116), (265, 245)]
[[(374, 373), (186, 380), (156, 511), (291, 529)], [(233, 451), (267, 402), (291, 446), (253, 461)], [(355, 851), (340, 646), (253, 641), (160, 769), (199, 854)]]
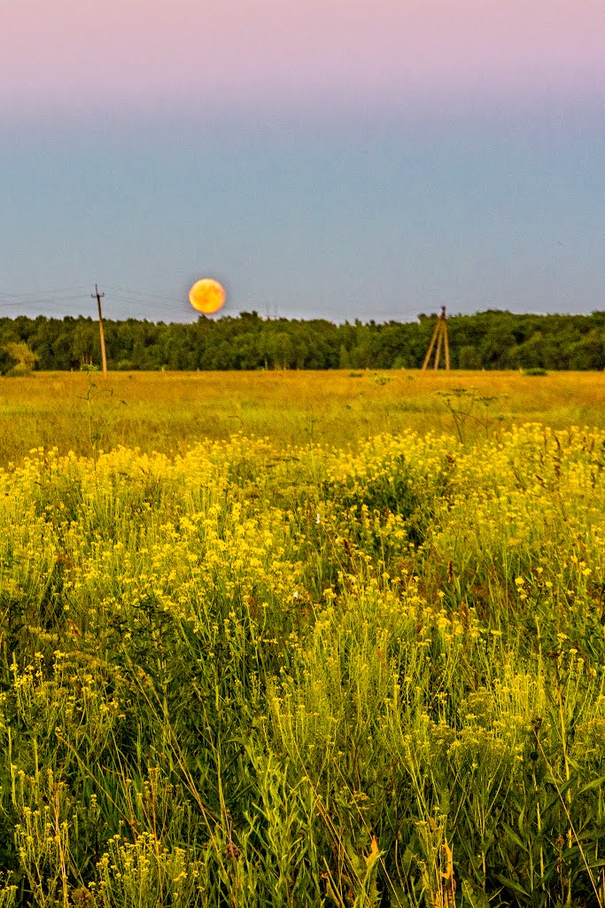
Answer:
[(602, 0), (19, 0), (0, 316), (605, 308)]

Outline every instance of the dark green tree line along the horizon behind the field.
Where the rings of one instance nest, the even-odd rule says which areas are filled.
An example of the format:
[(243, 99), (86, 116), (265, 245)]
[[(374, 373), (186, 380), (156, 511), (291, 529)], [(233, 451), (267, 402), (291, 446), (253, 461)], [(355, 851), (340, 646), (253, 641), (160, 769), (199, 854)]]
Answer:
[[(257, 312), (192, 324), (104, 321), (110, 370), (415, 369), (436, 315), (418, 321), (263, 319)], [(519, 315), (488, 310), (447, 321), (453, 369), (605, 369), (605, 311)], [(99, 366), (97, 321), (66, 316), (0, 319), (0, 370)]]

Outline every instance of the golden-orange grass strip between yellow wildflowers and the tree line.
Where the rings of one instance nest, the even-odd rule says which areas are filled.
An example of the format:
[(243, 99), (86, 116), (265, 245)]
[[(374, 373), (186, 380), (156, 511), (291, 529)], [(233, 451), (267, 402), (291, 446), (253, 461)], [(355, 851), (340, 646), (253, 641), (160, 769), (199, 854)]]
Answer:
[[(605, 425), (605, 374), (417, 370), (36, 373), (0, 380), (0, 463), (43, 446), (184, 450), (236, 432), (277, 443), (356, 445), (379, 432), (454, 432), (443, 393), (467, 390), (469, 440), (512, 423)], [(487, 411), (477, 399), (495, 398)], [(474, 403), (473, 403), (474, 401)]]

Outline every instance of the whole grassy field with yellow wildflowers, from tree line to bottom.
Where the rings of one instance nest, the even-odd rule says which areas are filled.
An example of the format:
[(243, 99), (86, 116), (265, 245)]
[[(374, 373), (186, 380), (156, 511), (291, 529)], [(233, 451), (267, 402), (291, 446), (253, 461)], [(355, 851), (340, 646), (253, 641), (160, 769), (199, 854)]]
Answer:
[(0, 908), (605, 905), (604, 404), (0, 380)]

